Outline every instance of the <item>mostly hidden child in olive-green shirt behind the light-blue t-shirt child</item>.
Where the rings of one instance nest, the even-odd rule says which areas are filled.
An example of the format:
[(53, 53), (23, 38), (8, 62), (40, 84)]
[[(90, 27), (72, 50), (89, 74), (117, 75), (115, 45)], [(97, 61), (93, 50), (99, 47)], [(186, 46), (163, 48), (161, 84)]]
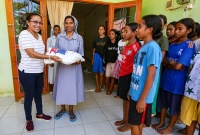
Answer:
[[(167, 17), (165, 15), (158, 15), (162, 21), (162, 30), (161, 32), (165, 29), (167, 25)], [(165, 57), (166, 52), (168, 51), (169, 47), (169, 41), (168, 39), (161, 35), (160, 37), (157, 37), (157, 39), (154, 39), (157, 44), (160, 46), (161, 51), (162, 51), (162, 59)], [(162, 68), (160, 70), (160, 74), (162, 72)], [(156, 94), (152, 103), (152, 116), (156, 115), (156, 100), (157, 100), (157, 95), (158, 95), (158, 90), (159, 90), (159, 84), (160, 84), (160, 75), (157, 83), (157, 89), (156, 89)]]

